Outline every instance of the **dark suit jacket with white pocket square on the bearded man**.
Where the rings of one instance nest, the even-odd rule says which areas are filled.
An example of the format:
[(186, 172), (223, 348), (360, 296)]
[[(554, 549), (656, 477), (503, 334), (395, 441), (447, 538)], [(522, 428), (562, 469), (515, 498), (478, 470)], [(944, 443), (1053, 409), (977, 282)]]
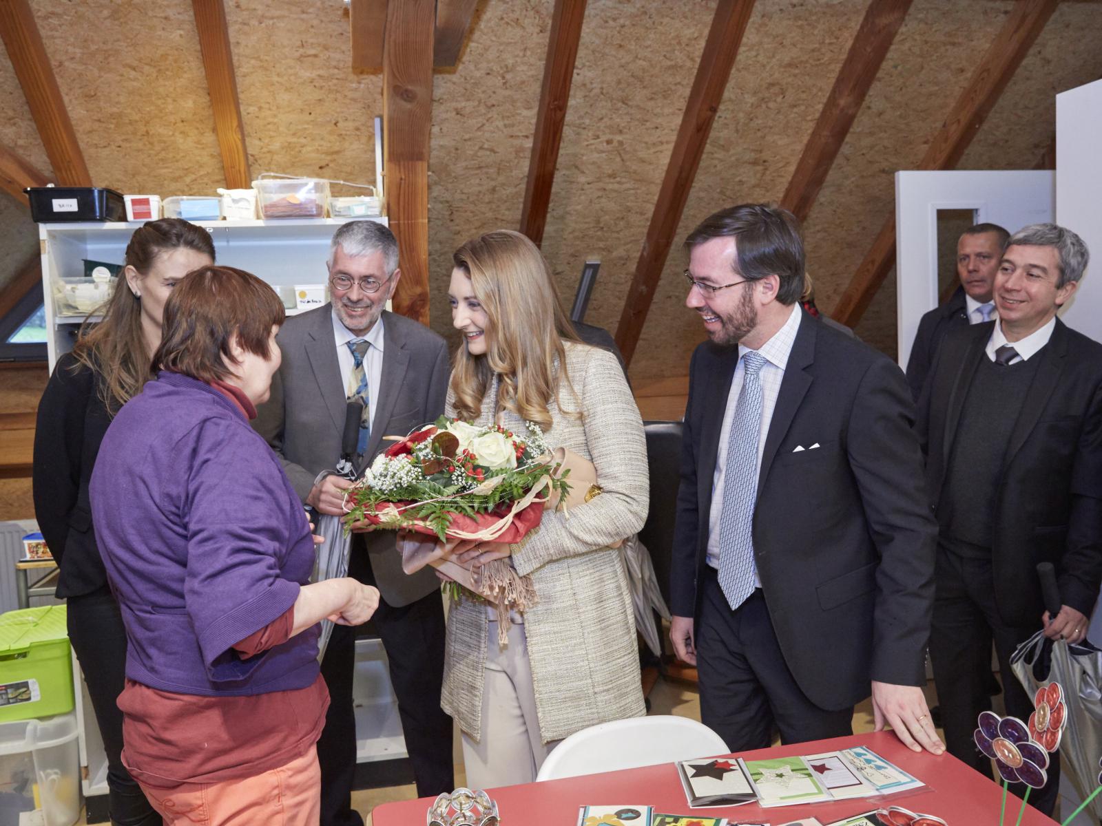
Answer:
[[(670, 575), (682, 617), (699, 606), (737, 360), (737, 347), (705, 343), (690, 367)], [(785, 660), (822, 708), (867, 697), (869, 680), (926, 682), (937, 525), (912, 414), (895, 363), (803, 314), (761, 457), (754, 555)]]

